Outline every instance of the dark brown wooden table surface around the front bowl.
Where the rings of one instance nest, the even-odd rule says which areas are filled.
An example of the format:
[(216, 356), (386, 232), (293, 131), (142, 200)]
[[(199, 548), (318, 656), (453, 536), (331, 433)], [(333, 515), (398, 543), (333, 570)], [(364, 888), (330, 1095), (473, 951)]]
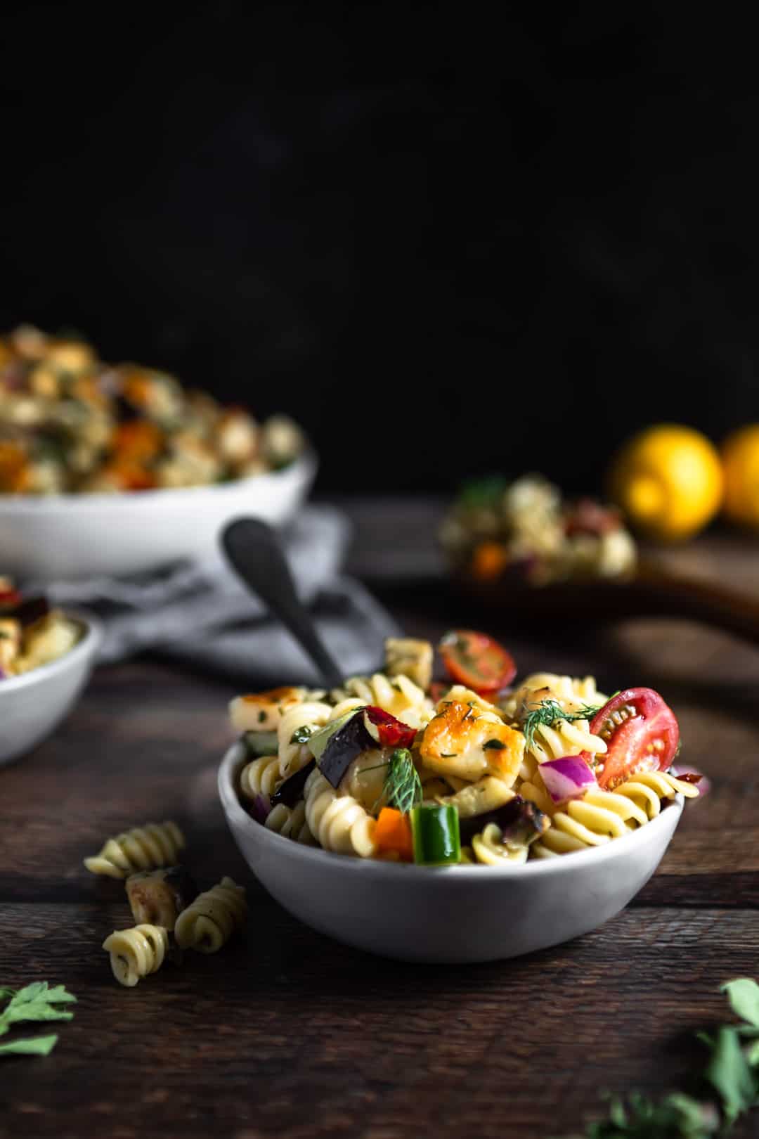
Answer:
[[(362, 517), (358, 568), (377, 541)], [(412, 530), (404, 541), (429, 568), (431, 546)], [(702, 555), (709, 572), (751, 582), (756, 548), (729, 540)], [(386, 575), (380, 596), (412, 634), (471, 623), (442, 582)], [(283, 912), (226, 830), (215, 776), (236, 686), (150, 658), (101, 669), (56, 737), (0, 771), (0, 985), (49, 980), (79, 998), (50, 1057), (0, 1060), (2, 1139), (537, 1139), (576, 1130), (603, 1088), (682, 1079), (699, 1055), (693, 1030), (724, 1015), (720, 982), (759, 975), (759, 652), (685, 622), (488, 624), (522, 672), (663, 691), (684, 755), (713, 779), (630, 907), (569, 944), (490, 965), (346, 949)], [(123, 886), (82, 859), (163, 818), (185, 829), (201, 885), (225, 872), (246, 884), (250, 917), (220, 954), (188, 953), (126, 990), (100, 949), (131, 924)]]

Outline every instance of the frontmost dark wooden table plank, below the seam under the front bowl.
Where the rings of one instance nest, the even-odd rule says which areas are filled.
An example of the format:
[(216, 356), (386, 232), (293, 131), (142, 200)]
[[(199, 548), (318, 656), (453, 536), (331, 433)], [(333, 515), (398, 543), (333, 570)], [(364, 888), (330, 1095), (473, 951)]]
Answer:
[(520, 960), (421, 967), (254, 902), (245, 941), (130, 991), (99, 948), (115, 908), (5, 908), (3, 977), (80, 1003), (51, 1057), (5, 1062), (0, 1136), (561, 1133), (604, 1085), (680, 1077), (759, 937), (756, 912), (627, 911)]

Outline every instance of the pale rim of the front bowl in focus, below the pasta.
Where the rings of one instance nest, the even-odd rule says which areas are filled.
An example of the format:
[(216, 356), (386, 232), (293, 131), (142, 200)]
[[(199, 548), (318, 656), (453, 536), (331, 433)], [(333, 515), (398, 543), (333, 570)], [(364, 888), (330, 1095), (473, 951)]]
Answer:
[[(236, 740), (224, 753), (218, 767), (218, 796), (224, 814), (230, 823), (234, 822), (237, 826), (247, 828), (255, 827), (256, 829), (250, 833), (256, 842), (264, 845), (273, 843), (273, 849), (277, 849), (278, 843), (284, 844), (282, 853), (287, 849), (289, 857), (295, 858), (296, 861), (314, 862), (315, 860), (316, 863), (329, 865), (336, 869), (337, 867), (341, 867), (348, 874), (364, 874), (369, 876), (379, 874), (383, 877), (389, 875), (397, 876), (398, 879), (403, 878), (406, 882), (411, 877), (416, 882), (423, 878), (428, 882), (439, 883), (451, 871), (455, 871), (456, 877), (465, 876), (477, 882), (521, 878), (526, 874), (534, 877), (572, 874), (576, 870), (581, 870), (583, 867), (599, 866), (603, 861), (613, 861), (617, 858), (625, 858), (626, 854), (634, 854), (635, 850), (640, 849), (643, 844), (653, 842), (660, 830), (666, 830), (671, 826), (671, 834), (667, 842), (668, 846), (683, 814), (685, 803), (684, 797), (678, 794), (662, 808), (661, 813), (655, 819), (651, 819), (644, 827), (630, 830), (628, 835), (624, 835), (621, 838), (613, 838), (601, 846), (589, 846), (584, 851), (575, 851), (571, 858), (533, 859), (529, 862), (503, 867), (461, 865), (439, 867), (413, 866), (407, 862), (383, 862), (379, 859), (349, 858), (345, 854), (335, 854), (332, 851), (322, 850), (320, 846), (306, 846), (300, 843), (294, 843), (291, 838), (284, 838), (275, 830), (267, 830), (261, 822), (256, 822), (255, 819), (250, 818), (237, 797), (232, 772), (237, 764), (245, 759), (245, 755), (244, 745), (240, 740)], [(487, 870), (487, 874), (484, 872), (485, 870)]]

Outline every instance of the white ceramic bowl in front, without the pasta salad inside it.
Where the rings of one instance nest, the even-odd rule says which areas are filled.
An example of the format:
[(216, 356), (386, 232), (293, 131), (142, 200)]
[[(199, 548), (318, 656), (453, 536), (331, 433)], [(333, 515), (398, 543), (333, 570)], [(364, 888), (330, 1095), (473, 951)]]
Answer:
[(504, 868), (427, 868), (302, 846), (240, 806), (234, 744), (218, 792), (234, 839), (286, 910), (337, 941), (404, 961), (492, 961), (569, 941), (614, 917), (649, 880), (683, 812), (678, 796), (640, 830), (594, 850)]

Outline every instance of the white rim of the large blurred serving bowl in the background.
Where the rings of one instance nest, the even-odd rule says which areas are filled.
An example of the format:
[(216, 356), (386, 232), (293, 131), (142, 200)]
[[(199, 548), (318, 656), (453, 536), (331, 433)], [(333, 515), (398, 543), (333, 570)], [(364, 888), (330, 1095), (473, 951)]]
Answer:
[(109, 511), (124, 510), (139, 503), (155, 505), (157, 502), (176, 507), (180, 498), (185, 497), (197, 503), (203, 497), (231, 494), (238, 490), (249, 490), (251, 486), (265, 487), (277, 482), (300, 482), (313, 476), (317, 465), (316, 452), (306, 444), (292, 462), (279, 470), (264, 470), (259, 475), (248, 475), (246, 478), (232, 478), (228, 483), (204, 483), (200, 486), (158, 486), (147, 491), (116, 491), (115, 493), (96, 492), (93, 494), (75, 494), (71, 491), (63, 494), (0, 494), (0, 516), (25, 514), (53, 514), (60, 510), (88, 513), (107, 507)]

